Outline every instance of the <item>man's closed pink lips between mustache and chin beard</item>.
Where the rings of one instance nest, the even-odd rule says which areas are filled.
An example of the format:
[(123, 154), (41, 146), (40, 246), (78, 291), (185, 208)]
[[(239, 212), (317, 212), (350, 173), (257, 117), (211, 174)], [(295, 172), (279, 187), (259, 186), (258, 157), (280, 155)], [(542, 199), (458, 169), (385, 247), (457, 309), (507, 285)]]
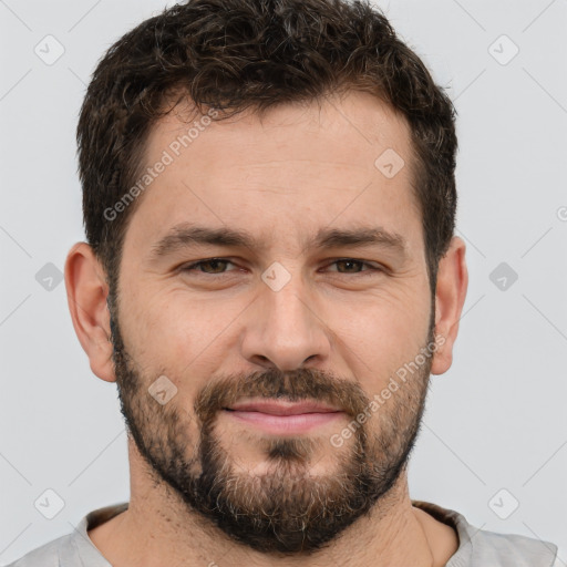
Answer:
[(338, 408), (311, 401), (258, 400), (224, 410), (230, 419), (275, 435), (306, 433), (344, 415)]

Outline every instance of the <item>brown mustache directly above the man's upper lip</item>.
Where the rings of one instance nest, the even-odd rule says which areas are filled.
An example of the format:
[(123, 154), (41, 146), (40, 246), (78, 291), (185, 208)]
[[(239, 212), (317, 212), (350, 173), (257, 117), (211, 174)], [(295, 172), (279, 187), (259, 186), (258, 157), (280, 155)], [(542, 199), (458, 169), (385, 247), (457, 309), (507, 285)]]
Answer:
[(315, 369), (282, 372), (268, 369), (251, 374), (236, 373), (207, 383), (197, 394), (194, 410), (202, 423), (243, 398), (312, 400), (328, 403), (355, 417), (369, 405), (362, 388), (352, 380)]

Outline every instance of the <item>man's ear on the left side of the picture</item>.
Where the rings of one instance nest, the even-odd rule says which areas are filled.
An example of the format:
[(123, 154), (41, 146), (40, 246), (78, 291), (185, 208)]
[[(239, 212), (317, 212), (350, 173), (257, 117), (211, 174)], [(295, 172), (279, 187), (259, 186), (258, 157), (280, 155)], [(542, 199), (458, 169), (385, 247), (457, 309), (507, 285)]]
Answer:
[(86, 352), (91, 370), (102, 380), (114, 382), (109, 286), (104, 270), (86, 243), (76, 243), (65, 261), (65, 287), (76, 337)]

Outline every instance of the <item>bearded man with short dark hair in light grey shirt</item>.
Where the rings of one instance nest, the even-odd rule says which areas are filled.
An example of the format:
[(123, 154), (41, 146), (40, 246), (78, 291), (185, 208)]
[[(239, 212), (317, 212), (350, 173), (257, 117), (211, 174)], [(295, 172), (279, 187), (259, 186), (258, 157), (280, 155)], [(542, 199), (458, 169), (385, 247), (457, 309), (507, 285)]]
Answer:
[(81, 111), (73, 324), (116, 381), (131, 499), (16, 566), (550, 566), (413, 502), (467, 288), (454, 110), (370, 4), (195, 0)]

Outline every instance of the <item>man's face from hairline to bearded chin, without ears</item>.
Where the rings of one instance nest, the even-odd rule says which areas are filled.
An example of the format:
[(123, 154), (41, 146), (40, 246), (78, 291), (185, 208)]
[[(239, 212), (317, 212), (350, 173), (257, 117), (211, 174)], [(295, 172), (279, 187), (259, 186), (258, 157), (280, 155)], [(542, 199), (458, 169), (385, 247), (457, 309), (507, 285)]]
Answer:
[[(309, 553), (380, 506), (419, 429), (433, 329), (410, 132), (361, 93), (199, 125), (185, 148), (193, 123), (173, 114), (151, 136), (147, 165), (172, 162), (124, 243), (123, 412), (192, 511), (265, 553)], [(181, 225), (249, 241), (158, 246)], [(360, 230), (379, 238), (341, 234)]]

